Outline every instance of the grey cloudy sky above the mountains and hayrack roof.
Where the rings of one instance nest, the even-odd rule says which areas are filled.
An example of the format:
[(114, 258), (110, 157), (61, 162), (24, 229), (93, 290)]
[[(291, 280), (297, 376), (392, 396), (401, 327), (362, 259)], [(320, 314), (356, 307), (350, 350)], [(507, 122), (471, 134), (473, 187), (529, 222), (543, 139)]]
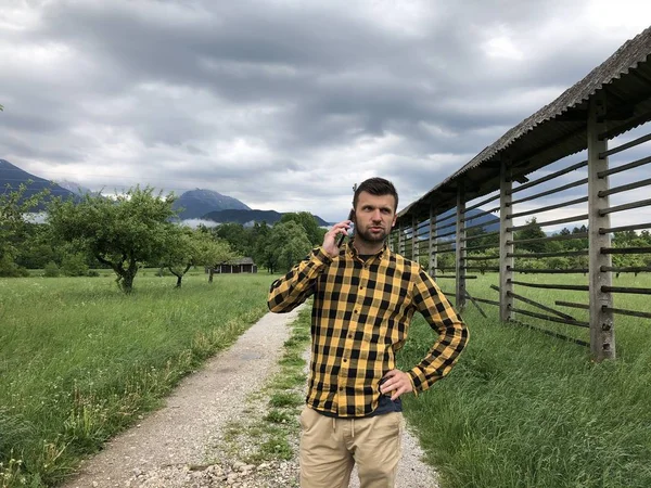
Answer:
[(383, 176), (404, 207), (650, 21), (640, 0), (2, 0), (0, 158), (330, 221)]

